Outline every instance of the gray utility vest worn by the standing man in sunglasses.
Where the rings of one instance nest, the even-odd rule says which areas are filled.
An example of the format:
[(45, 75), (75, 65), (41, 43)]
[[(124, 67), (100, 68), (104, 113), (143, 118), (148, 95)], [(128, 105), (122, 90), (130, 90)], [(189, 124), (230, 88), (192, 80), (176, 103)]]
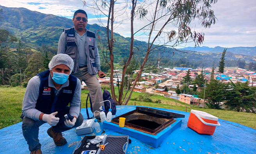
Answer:
[[(77, 41), (75, 39), (75, 28), (64, 29), (66, 34), (66, 54), (68, 54), (74, 60), (74, 68), (72, 73), (78, 73), (78, 48)], [(96, 41), (95, 33), (89, 30), (86, 31), (86, 42), (85, 42), (85, 54), (87, 55), (87, 70), (91, 75), (98, 74), (98, 69), (94, 62), (94, 44)], [(90, 40), (90, 41), (88, 41)]]

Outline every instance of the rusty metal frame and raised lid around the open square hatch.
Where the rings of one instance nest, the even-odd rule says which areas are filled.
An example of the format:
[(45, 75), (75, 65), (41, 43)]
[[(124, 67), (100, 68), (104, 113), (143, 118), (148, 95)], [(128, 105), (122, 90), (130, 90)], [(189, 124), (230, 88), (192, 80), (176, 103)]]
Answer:
[(131, 115), (135, 112), (150, 115), (150, 116), (153, 116), (153, 117), (169, 119), (167, 122), (165, 122), (164, 124), (162, 124), (161, 126), (157, 127), (154, 130), (148, 129), (148, 128), (145, 128), (145, 127), (141, 127), (141, 126), (137, 126), (135, 124), (130, 124), (128, 122), (125, 122), (125, 124), (124, 124), (124, 127), (128, 127), (128, 128), (131, 128), (131, 129), (142, 131), (144, 133), (148, 133), (148, 134), (151, 134), (151, 135), (156, 135), (158, 132), (162, 131), (167, 126), (170, 126), (171, 124), (176, 122), (176, 120), (174, 120), (174, 118), (184, 118), (185, 117), (185, 115), (178, 114), (178, 113), (172, 113), (172, 112), (157, 110), (157, 109), (153, 109), (153, 108), (145, 108), (145, 107), (137, 106), (135, 110), (133, 110), (131, 112), (128, 112), (128, 113), (125, 113), (123, 115), (120, 115), (118, 117), (115, 117), (115, 118), (112, 119), (111, 122), (113, 122), (115, 124), (119, 124), (119, 118), (120, 117), (126, 117), (126, 116)]

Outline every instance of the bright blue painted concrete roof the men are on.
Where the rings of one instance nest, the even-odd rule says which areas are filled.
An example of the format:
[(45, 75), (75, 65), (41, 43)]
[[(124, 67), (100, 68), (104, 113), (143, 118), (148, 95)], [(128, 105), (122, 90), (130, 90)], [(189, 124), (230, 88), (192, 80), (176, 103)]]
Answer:
[[(117, 106), (116, 116), (135, 110), (136, 106)], [(255, 154), (256, 153), (256, 130), (250, 127), (219, 119), (220, 126), (216, 127), (213, 135), (201, 135), (187, 127), (188, 112), (177, 110), (165, 110), (169, 112), (184, 114), (181, 127), (168, 135), (157, 148), (153, 148), (146, 143), (140, 142), (130, 137), (132, 143), (128, 145), (126, 154)], [(81, 113), (86, 117), (85, 108)], [(92, 113), (90, 113), (92, 116)], [(9, 127), (0, 129), (0, 154), (29, 154), (27, 142), (25, 141), (22, 130), (22, 122)], [(101, 123), (100, 123), (101, 125)], [(75, 129), (63, 132), (68, 143), (64, 146), (55, 146), (52, 138), (46, 131), (50, 126), (46, 123), (39, 127), (39, 140), (42, 144), (43, 154), (72, 154), (76, 144), (85, 135), (76, 135)], [(115, 131), (103, 129), (107, 135), (122, 135)], [(95, 129), (91, 134), (96, 133)]]

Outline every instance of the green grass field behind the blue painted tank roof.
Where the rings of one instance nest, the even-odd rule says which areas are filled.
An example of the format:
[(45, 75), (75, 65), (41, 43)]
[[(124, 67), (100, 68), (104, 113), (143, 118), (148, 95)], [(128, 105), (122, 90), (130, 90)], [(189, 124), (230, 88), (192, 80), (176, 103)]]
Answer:
[[(117, 88), (116, 95), (118, 94)], [(110, 90), (109, 90), (110, 91)], [(89, 93), (89, 90), (82, 90), (82, 108), (85, 108), (86, 97)], [(25, 94), (25, 88), (21, 87), (0, 87), (0, 129), (11, 126), (18, 122), (21, 122), (21, 108), (22, 108), (22, 100)], [(129, 92), (128, 92), (129, 94)], [(174, 105), (176, 100), (169, 99), (164, 96), (152, 95), (148, 96), (152, 101), (156, 101), (158, 99), (161, 100), (161, 103), (151, 103), (151, 102), (142, 102), (135, 100), (139, 95), (145, 96), (148, 94), (133, 92), (128, 105), (136, 105), (137, 106), (149, 106), (149, 107), (157, 107), (157, 108), (167, 108), (172, 110), (186, 111), (190, 112), (190, 110), (200, 110), (207, 113), (210, 113), (219, 119), (228, 120), (231, 122), (236, 122), (242, 124), (244, 126), (248, 126), (256, 129), (256, 114), (254, 113), (245, 113), (245, 112), (234, 112), (234, 111), (226, 111), (226, 110), (214, 110), (207, 108), (199, 108), (197, 106), (190, 106), (183, 102), (178, 101), (178, 106)], [(89, 101), (89, 100), (88, 100)], [(172, 104), (172, 105), (171, 105)], [(90, 103), (88, 103), (90, 106)]]

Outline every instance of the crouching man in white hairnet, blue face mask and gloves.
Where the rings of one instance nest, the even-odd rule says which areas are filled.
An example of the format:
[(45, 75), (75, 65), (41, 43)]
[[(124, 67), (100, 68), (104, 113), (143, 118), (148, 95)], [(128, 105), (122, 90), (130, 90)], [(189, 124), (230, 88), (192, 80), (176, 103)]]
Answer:
[[(42, 154), (38, 140), (39, 126), (48, 123), (47, 130), (55, 145), (67, 143), (62, 132), (78, 127), (84, 117), (80, 113), (81, 82), (71, 75), (74, 62), (69, 55), (55, 55), (43, 71), (28, 81), (22, 103), (22, 132), (30, 154)], [(68, 115), (66, 119), (64, 115)], [(72, 120), (70, 120), (72, 119)]]

